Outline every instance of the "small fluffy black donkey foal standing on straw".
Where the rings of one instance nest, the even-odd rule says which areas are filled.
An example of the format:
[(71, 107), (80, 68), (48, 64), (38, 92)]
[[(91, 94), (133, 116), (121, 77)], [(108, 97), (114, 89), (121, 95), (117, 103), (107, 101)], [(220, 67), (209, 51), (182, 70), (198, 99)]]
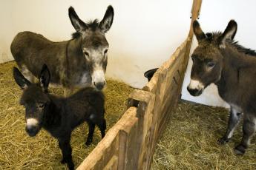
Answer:
[(30, 137), (36, 136), (44, 128), (59, 141), (62, 150), (61, 163), (68, 163), (74, 169), (70, 136), (73, 129), (83, 122), (89, 125), (86, 145), (93, 140), (95, 125), (99, 126), (102, 137), (105, 136), (104, 95), (93, 87), (85, 87), (68, 98), (59, 98), (47, 93), (50, 72), (44, 64), (39, 75), (39, 84), (33, 84), (24, 78), (16, 67), (13, 77), (23, 89), (20, 104), (25, 107), (26, 132)]

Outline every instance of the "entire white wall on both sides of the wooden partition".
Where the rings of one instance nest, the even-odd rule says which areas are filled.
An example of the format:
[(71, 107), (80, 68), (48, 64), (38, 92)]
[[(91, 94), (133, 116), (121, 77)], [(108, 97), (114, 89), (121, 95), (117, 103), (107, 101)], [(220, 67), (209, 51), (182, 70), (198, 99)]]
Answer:
[[(159, 67), (188, 35), (192, 0), (6, 0), (0, 1), (0, 63), (12, 60), (10, 43), (24, 30), (41, 33), (52, 41), (68, 40), (74, 32), (68, 18), (72, 5), (82, 20), (101, 19), (108, 4), (114, 7), (114, 24), (106, 37), (110, 44), (107, 75), (131, 86), (146, 83), (143, 72)], [(224, 30), (231, 18), (238, 23), (236, 38), (245, 47), (256, 49), (256, 1), (203, 1), (200, 24), (205, 32)], [(193, 42), (193, 47), (197, 41)], [(200, 97), (186, 91), (191, 61), (183, 84), (183, 99), (226, 106), (216, 86)]]

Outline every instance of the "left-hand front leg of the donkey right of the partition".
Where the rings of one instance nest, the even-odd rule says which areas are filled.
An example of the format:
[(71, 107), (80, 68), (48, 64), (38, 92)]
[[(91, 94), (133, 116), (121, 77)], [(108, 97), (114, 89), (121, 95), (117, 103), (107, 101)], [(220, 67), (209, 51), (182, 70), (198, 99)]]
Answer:
[(225, 135), (218, 140), (218, 143), (225, 144), (229, 142), (229, 140), (233, 136), (234, 129), (237, 127), (237, 124), (240, 122), (241, 115), (242, 115), (241, 113), (231, 108), (230, 115), (229, 115), (228, 128), (226, 129)]

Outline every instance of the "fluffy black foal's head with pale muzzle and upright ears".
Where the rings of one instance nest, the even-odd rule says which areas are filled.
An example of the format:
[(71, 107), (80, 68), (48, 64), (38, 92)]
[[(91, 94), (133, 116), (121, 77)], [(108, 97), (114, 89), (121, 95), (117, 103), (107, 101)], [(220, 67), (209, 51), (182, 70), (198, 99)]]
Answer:
[(41, 74), (39, 75), (39, 84), (30, 83), (16, 67), (13, 67), (13, 77), (23, 90), (20, 104), (26, 110), (26, 132), (31, 137), (36, 136), (42, 128), (45, 112), (50, 105), (50, 98), (47, 95), (50, 72), (46, 65), (42, 67)]

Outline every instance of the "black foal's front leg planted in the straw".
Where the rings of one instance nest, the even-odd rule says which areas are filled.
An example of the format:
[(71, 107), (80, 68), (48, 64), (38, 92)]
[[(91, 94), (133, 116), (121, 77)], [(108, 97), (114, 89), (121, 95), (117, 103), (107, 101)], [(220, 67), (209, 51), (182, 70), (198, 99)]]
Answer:
[(70, 137), (59, 138), (59, 148), (62, 150), (61, 163), (68, 163), (68, 169), (74, 169), (72, 160), (72, 148), (70, 146)]

